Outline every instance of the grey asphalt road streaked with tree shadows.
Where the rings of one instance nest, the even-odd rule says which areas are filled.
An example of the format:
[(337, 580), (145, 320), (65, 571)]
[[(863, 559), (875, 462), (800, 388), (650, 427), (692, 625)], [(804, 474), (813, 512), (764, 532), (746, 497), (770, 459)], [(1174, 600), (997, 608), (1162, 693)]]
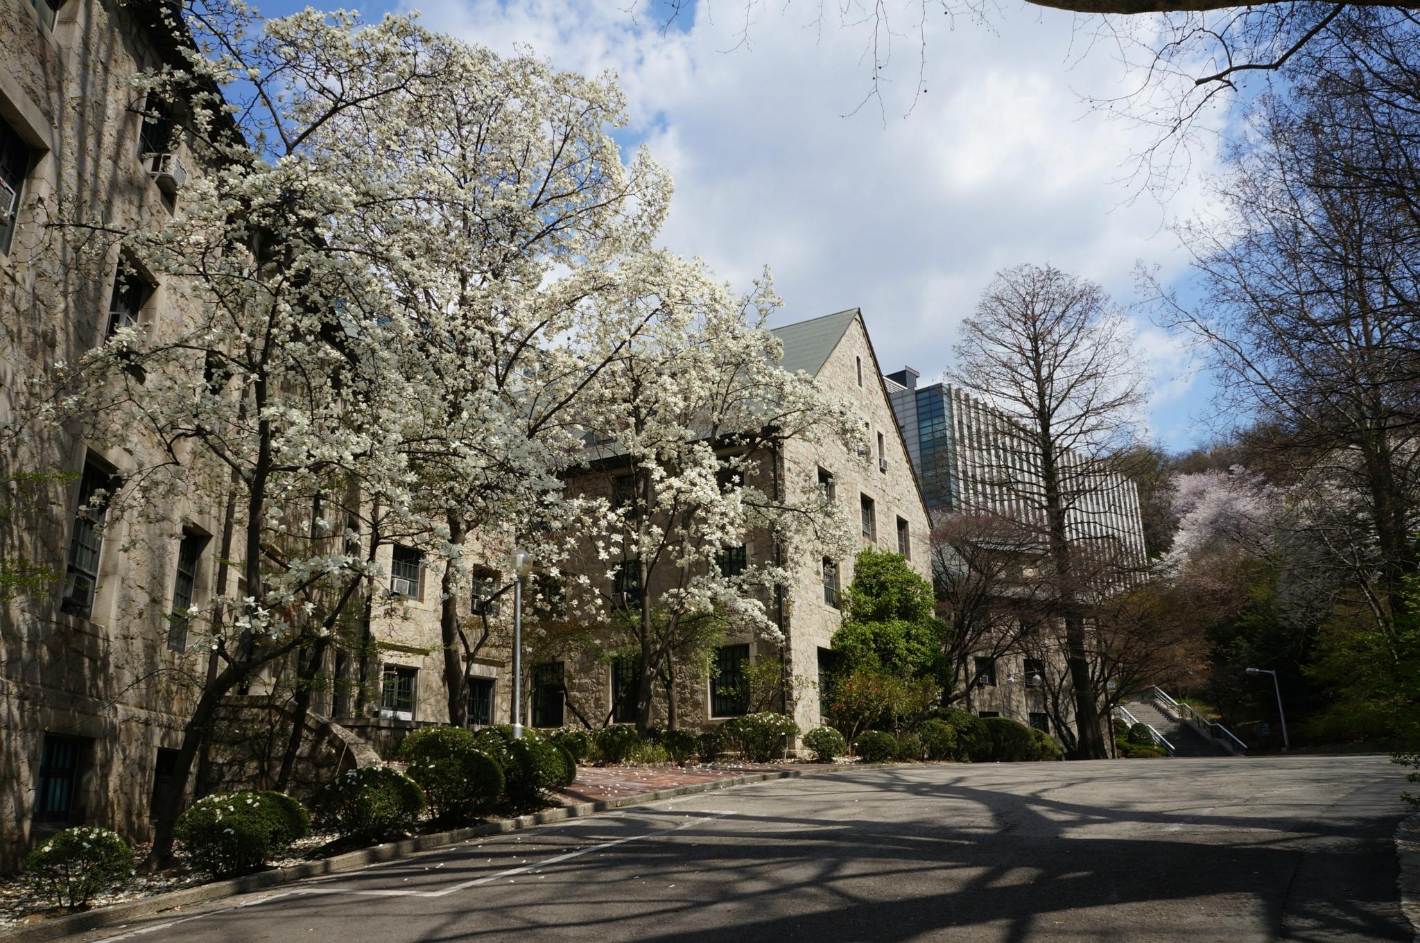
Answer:
[(845, 768), (85, 940), (1411, 940), (1383, 757)]

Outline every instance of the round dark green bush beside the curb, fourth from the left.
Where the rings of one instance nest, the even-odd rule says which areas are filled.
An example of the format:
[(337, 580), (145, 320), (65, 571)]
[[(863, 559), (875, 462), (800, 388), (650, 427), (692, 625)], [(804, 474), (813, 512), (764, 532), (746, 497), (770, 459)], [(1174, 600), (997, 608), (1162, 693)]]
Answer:
[(409, 778), (425, 791), (436, 819), (470, 821), (503, 794), (503, 764), (480, 743), (463, 727), (422, 727), (399, 744), (399, 758), (409, 764)]

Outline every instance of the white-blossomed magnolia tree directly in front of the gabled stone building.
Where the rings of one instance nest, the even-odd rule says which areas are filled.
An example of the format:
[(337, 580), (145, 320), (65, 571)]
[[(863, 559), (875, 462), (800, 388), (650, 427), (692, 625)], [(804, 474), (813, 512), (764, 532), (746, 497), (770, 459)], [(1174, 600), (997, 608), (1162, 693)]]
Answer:
[(780, 638), (795, 551), (846, 541), (825, 496), (785, 480), (781, 447), (809, 436), (856, 445), (861, 420), (778, 365), (781, 344), (764, 327), (775, 304), (767, 278), (736, 297), (700, 266), (667, 260), (657, 280), (632, 285), (622, 327), (591, 352), (608, 365), (581, 408), (584, 480), (606, 518), (581, 569), (599, 577), (619, 649), (638, 665), (642, 730), (657, 679), (673, 710), (677, 663), (703, 662), (727, 631)]

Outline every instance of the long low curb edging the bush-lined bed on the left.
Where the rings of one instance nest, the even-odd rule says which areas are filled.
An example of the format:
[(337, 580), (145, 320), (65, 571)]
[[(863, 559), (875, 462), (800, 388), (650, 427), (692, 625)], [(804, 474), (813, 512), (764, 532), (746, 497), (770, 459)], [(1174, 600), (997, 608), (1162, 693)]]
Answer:
[(405, 838), (398, 842), (372, 845), (371, 848), (361, 848), (358, 851), (345, 852), (344, 855), (335, 855), (334, 858), (322, 858), (321, 861), (312, 861), (302, 865), (291, 865), (288, 868), (274, 868), (271, 871), (261, 871), (254, 875), (247, 875), (246, 878), (214, 881), (212, 883), (199, 885), (196, 888), (185, 888), (183, 890), (173, 890), (170, 893), (159, 893), (151, 898), (141, 898), (138, 900), (115, 903), (112, 906), (101, 907), (98, 910), (84, 910), (81, 913), (70, 913), (61, 917), (51, 917), (48, 920), (41, 920), (38, 923), (31, 923), (28, 926), (20, 926), (0, 932), (0, 937), (10, 940), (13, 943), (33, 943), (36, 940), (53, 940), (62, 936), (70, 936), (72, 933), (97, 930), (101, 927), (114, 926), (115, 923), (125, 923), (128, 920), (146, 917), (155, 913), (162, 913), (163, 910), (186, 907), (195, 903), (204, 903), (207, 900), (217, 900), (220, 898), (230, 898), (240, 893), (251, 893), (253, 890), (264, 890), (266, 888), (275, 888), (297, 881), (305, 881), (308, 878), (320, 878), (322, 875), (338, 875), (348, 871), (359, 871), (361, 868), (366, 868), (369, 865), (376, 865), (386, 861), (396, 861), (399, 858), (406, 858), (409, 855), (422, 851), (432, 851), (435, 848), (454, 845), (457, 842), (463, 842), (470, 838), (517, 832), (523, 831), (524, 828), (532, 828), (534, 825), (548, 825), (551, 822), (561, 822), (569, 818), (581, 818), (584, 815), (595, 815), (598, 812), (608, 812), (611, 810), (625, 808), (628, 805), (643, 805), (646, 802), (657, 802), (660, 800), (669, 800), (677, 795), (692, 795), (694, 792), (713, 792), (716, 790), (726, 790), (734, 785), (748, 785), (751, 783), (764, 783), (767, 780), (794, 780), (804, 775), (805, 773), (814, 773), (814, 771), (815, 770), (782, 770), (777, 773), (754, 773), (750, 775), (737, 775), (726, 780), (713, 780), (710, 783), (676, 785), (669, 790), (657, 790), (655, 792), (623, 795), (615, 800), (579, 802), (577, 805), (559, 805), (557, 808), (542, 810), (541, 812), (531, 812), (528, 815), (518, 815), (517, 818), (506, 818), (497, 822), (488, 822), (487, 825), (471, 825), (469, 828), (456, 828), (449, 832), (416, 835), (413, 838)]

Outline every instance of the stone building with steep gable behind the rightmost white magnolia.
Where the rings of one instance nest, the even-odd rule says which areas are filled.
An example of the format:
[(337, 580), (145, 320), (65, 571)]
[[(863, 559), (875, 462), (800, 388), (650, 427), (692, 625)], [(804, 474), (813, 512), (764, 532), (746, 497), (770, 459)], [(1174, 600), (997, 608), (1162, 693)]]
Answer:
[[(770, 487), (772, 480), (774, 487), (790, 489), (791, 497), (826, 491), (853, 521), (861, 534), (859, 545), (899, 552), (927, 577), (926, 503), (862, 312), (856, 308), (841, 311), (775, 328), (774, 332), (784, 345), (784, 369), (804, 371), (853, 400), (865, 423), (868, 453), (853, 452), (836, 440), (790, 439), (777, 454), (761, 463), (764, 487)], [(619, 474), (621, 467), (611, 457), (594, 463), (569, 486), (613, 497)], [(744, 555), (743, 565), (746, 560), (771, 560), (780, 548), (767, 534), (754, 533), (747, 534), (744, 545), (734, 551)], [(730, 636), (713, 653), (711, 670), (679, 667), (673, 685), (677, 726), (697, 729), (754, 709), (791, 713), (804, 731), (822, 726), (818, 679), (831, 659), (828, 650), (834, 632), (842, 623), (839, 599), (842, 589), (852, 582), (853, 560), (829, 558), (821, 548), (807, 548), (785, 564), (794, 572), (792, 585), (782, 595), (764, 599), (782, 639), (770, 642)], [(628, 587), (606, 582), (602, 591), (615, 601)], [(656, 594), (659, 587), (652, 585), (649, 591)], [(578, 721), (601, 726), (608, 720), (633, 720), (635, 692), (628, 689), (633, 670), (630, 665), (588, 655), (577, 643), (559, 648), (555, 641), (542, 642), (542, 653), (530, 658), (527, 716), (532, 726), (555, 727)], [(750, 692), (737, 679), (744, 676), (747, 666), (761, 659), (775, 659), (785, 683), (777, 700), (757, 704), (751, 703)], [(655, 706), (655, 719), (662, 724), (669, 720), (665, 694)]]

